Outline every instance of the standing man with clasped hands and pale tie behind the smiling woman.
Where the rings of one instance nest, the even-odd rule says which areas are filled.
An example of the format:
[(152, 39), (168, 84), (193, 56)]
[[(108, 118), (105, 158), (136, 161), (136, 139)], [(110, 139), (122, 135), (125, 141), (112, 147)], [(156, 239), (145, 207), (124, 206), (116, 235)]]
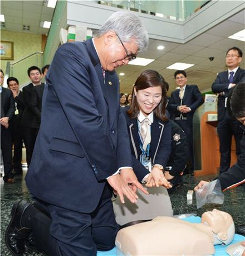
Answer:
[(203, 96), (195, 85), (187, 84), (187, 73), (184, 70), (177, 70), (174, 73), (179, 89), (171, 94), (168, 108), (171, 111), (171, 118), (182, 127), (187, 135), (189, 148), (190, 173), (194, 171), (193, 159), (193, 115), (195, 110), (203, 104)]

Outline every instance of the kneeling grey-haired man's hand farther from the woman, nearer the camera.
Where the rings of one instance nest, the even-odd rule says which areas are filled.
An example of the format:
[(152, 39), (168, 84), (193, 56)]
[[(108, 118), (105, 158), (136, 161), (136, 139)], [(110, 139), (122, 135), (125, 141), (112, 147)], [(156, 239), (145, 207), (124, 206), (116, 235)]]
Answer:
[(119, 173), (107, 178), (107, 182), (114, 189), (116, 194), (119, 195), (121, 203), (125, 202), (124, 196), (126, 196), (130, 202), (136, 203), (136, 199), (138, 199), (138, 196), (124, 181), (123, 177), (121, 177)]

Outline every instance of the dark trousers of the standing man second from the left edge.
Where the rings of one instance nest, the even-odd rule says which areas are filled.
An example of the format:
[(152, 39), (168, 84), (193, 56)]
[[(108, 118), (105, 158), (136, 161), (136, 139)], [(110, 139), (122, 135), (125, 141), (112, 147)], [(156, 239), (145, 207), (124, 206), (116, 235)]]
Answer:
[(22, 146), (23, 146), (23, 129), (21, 125), (14, 127), (13, 131), (13, 168), (15, 172), (22, 172)]

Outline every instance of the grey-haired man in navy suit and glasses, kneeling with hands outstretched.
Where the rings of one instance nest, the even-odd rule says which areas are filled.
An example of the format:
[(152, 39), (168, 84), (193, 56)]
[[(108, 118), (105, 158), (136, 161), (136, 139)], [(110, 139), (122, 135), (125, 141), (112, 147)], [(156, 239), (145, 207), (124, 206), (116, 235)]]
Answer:
[[(12, 253), (33, 231), (48, 255), (96, 255), (115, 245), (111, 195), (145, 193), (131, 163), (115, 68), (135, 59), (148, 34), (133, 12), (115, 12), (96, 37), (61, 45), (46, 76), (46, 99), (26, 183), (50, 217), (17, 201), (6, 231)], [(120, 170), (120, 173), (119, 173)]]

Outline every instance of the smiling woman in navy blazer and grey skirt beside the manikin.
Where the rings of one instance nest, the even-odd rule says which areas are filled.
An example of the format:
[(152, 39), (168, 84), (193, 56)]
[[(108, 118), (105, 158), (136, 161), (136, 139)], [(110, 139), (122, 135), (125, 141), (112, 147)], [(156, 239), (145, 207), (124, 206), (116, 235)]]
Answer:
[(116, 221), (120, 225), (173, 215), (166, 191), (172, 185), (164, 177), (172, 144), (172, 126), (165, 116), (165, 106), (164, 78), (154, 70), (145, 70), (135, 82), (131, 106), (123, 112), (128, 125), (133, 169), (138, 180), (146, 182), (149, 195), (139, 192), (135, 205), (114, 201)]

